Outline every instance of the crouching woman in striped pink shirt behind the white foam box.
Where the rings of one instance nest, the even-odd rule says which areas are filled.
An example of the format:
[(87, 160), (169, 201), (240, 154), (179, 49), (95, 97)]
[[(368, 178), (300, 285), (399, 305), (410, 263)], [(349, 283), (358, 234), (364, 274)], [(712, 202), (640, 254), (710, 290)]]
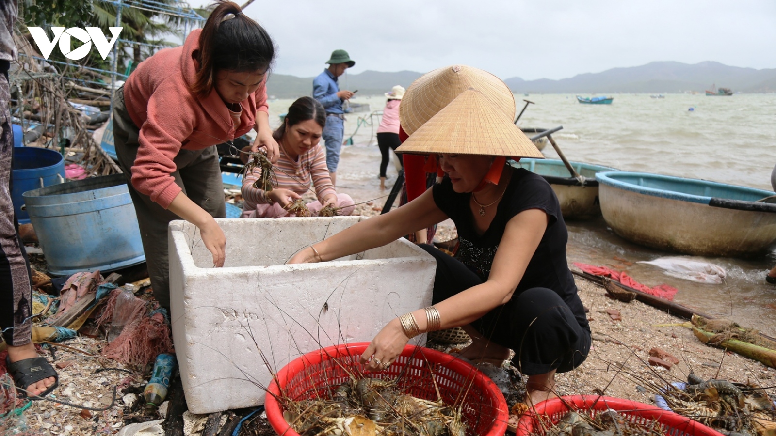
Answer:
[(326, 111), (316, 99), (302, 97), (289, 107), (282, 125), (272, 133), (278, 141), (280, 157), (275, 164), (277, 187), (270, 192), (253, 183), (262, 175), (256, 168), (243, 178), (244, 199), (242, 218), (281, 218), (289, 216), (286, 207), (314, 185), (317, 201), (307, 203), (307, 209), (317, 215), (325, 206), (341, 208), (340, 215), (350, 215), (355, 209), (348, 194), (338, 194), (331, 184), (324, 149), (318, 144), (326, 124)]

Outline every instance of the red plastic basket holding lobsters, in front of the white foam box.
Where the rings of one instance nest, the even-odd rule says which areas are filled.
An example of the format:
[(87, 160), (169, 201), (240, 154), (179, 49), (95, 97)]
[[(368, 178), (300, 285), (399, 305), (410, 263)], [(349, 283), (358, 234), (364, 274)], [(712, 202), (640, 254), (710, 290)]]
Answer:
[(284, 436), (299, 436), (286, 422), (282, 403), (275, 396), (282, 392), (284, 398), (296, 401), (328, 398), (332, 389), (350, 379), (349, 371), (376, 379), (396, 379), (402, 373), (400, 389), (424, 400), (437, 400), (436, 382), (445, 403), (462, 405), (466, 434), (502, 436), (507, 430), (509, 413), (504, 395), (491, 379), (472, 365), (452, 355), (407, 345), (385, 371), (366, 372), (359, 357), (367, 345), (369, 343), (360, 342), (323, 348), (296, 358), (281, 369), (269, 384), (265, 400), (267, 419), (272, 428)]

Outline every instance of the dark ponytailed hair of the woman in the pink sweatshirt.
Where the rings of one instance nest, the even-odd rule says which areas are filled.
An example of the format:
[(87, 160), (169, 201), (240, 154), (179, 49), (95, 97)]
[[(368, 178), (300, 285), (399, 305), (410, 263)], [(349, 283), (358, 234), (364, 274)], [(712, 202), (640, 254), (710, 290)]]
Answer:
[(275, 60), (275, 43), (258, 22), (234, 2), (219, 0), (199, 34), (199, 71), (192, 92), (205, 98), (220, 70), (268, 71)]

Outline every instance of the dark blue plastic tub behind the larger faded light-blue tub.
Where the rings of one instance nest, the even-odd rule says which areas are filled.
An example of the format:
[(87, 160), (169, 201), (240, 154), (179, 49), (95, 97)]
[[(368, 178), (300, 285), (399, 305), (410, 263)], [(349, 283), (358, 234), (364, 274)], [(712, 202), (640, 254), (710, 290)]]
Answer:
[(22, 209), (24, 192), (64, 182), (64, 157), (58, 151), (38, 147), (15, 147), (11, 171), (11, 201), (19, 224), (29, 223)]

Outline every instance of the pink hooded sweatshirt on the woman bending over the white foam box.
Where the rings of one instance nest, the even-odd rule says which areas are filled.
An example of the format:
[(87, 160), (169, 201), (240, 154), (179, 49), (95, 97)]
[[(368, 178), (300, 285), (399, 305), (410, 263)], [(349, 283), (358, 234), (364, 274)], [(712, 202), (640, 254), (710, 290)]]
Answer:
[(137, 66), (124, 84), (126, 111), (140, 126), (140, 147), (132, 167), (132, 185), (167, 209), (181, 188), (171, 173), (178, 151), (202, 150), (241, 137), (256, 124), (256, 112), (268, 112), (266, 81), (242, 106), (240, 127), (215, 89), (205, 99), (190, 90), (201, 29), (189, 33), (181, 47), (160, 50)]

